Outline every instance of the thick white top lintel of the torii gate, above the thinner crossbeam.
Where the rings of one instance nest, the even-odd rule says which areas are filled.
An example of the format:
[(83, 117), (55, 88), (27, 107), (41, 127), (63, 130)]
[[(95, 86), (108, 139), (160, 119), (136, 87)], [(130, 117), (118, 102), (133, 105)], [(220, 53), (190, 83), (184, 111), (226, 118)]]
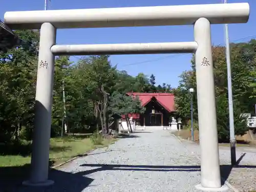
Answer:
[(247, 23), (248, 3), (205, 4), (48, 11), (10, 11), (4, 19), (12, 29), (58, 29), (193, 25), (201, 17), (211, 24)]

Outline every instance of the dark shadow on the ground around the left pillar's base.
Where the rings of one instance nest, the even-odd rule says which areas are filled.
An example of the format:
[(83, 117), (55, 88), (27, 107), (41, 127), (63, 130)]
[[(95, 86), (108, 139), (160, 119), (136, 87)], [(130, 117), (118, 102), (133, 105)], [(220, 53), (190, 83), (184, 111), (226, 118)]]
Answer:
[(84, 177), (80, 173), (67, 173), (50, 169), (49, 179), (55, 183), (48, 187), (29, 187), (22, 182), (29, 177), (30, 164), (24, 166), (0, 167), (1, 192), (81, 192), (91, 184), (93, 179)]

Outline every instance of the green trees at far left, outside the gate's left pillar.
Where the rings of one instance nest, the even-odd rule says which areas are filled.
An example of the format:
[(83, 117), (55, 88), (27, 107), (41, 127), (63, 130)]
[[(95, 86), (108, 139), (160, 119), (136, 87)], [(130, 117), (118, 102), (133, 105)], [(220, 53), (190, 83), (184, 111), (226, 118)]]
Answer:
[[(31, 136), (34, 117), (38, 31), (15, 31), (26, 44), (0, 56), (0, 140)], [(25, 136), (24, 135), (24, 136)]]

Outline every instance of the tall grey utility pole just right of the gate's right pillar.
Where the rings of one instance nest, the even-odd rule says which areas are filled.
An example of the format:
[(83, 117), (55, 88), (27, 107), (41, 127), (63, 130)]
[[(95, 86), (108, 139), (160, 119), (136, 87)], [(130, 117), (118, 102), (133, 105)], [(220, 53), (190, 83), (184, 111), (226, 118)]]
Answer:
[[(224, 4), (226, 4), (226, 3), (227, 3), (227, 0), (224, 0)], [(233, 115), (233, 98), (232, 98), (233, 96), (232, 96), (231, 63), (230, 63), (230, 49), (229, 49), (229, 36), (228, 36), (228, 25), (227, 24), (225, 24), (225, 39), (226, 39), (230, 154), (231, 154), (231, 165), (235, 165), (237, 163), (237, 158), (236, 158), (236, 136), (234, 135), (234, 115)]]

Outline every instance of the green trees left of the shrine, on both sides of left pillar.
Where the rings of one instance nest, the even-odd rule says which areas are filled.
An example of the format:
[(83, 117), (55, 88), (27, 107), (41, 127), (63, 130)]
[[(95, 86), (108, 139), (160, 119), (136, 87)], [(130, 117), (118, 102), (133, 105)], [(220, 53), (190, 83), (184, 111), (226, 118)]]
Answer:
[[(39, 31), (16, 30), (24, 43), (0, 55), (0, 141), (32, 139)], [(133, 85), (133, 86), (131, 86)], [(66, 115), (63, 105), (66, 96)], [(71, 133), (108, 130), (113, 114), (143, 112), (138, 99), (127, 92), (170, 92), (155, 86), (155, 76), (136, 77), (112, 66), (108, 55), (55, 58), (51, 136), (62, 132), (62, 118)], [(121, 100), (118, 100), (119, 96)], [(120, 102), (119, 102), (120, 101)]]

